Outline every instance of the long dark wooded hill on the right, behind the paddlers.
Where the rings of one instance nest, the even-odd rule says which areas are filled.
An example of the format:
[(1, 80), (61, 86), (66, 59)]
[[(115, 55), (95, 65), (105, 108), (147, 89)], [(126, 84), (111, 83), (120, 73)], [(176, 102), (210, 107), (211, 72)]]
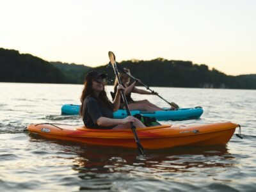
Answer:
[[(132, 76), (148, 86), (256, 89), (256, 74), (227, 76), (215, 68), (209, 70), (207, 65), (197, 65), (191, 61), (157, 58), (151, 61), (122, 61), (119, 65), (130, 68)], [(115, 75), (110, 65), (95, 70), (106, 73), (108, 84), (113, 84)]]

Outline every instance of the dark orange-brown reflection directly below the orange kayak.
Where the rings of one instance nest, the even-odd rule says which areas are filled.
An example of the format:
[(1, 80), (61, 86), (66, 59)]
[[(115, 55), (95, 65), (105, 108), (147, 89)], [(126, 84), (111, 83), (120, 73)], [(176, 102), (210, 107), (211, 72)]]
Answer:
[[(90, 147), (93, 151), (95, 147)], [(109, 149), (108, 149), (109, 150)], [(81, 169), (95, 170), (100, 173), (104, 172), (129, 172), (131, 168), (141, 167), (147, 168), (147, 172), (193, 172), (193, 168), (212, 168), (212, 167), (228, 167), (233, 166), (235, 157), (228, 153), (226, 146), (214, 146), (207, 148), (198, 147), (179, 147), (160, 151), (147, 151), (147, 156), (134, 156), (134, 151), (129, 153), (122, 152), (122, 157), (113, 156), (118, 154), (120, 148), (111, 148), (115, 154), (109, 153), (106, 148), (100, 150), (97, 148), (97, 153), (86, 151), (79, 151), (77, 154), (79, 158), (75, 159), (76, 170)], [(102, 155), (102, 153), (104, 155)], [(102, 157), (104, 157), (102, 159)], [(100, 161), (95, 160), (101, 159)], [(229, 161), (227, 161), (229, 160)], [(107, 165), (106, 165), (107, 164)], [(121, 167), (129, 165), (129, 169), (122, 170)], [(146, 175), (145, 175), (146, 176)], [(150, 177), (150, 175), (148, 175)]]

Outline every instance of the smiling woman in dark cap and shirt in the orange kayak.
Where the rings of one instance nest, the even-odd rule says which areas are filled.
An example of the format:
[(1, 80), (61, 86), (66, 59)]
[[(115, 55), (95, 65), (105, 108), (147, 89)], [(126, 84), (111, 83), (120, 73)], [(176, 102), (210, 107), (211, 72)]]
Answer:
[(131, 128), (130, 122), (133, 122), (136, 127), (145, 127), (134, 116), (127, 116), (124, 119), (113, 118), (113, 112), (117, 111), (120, 106), (120, 90), (124, 87), (122, 85), (117, 86), (115, 99), (112, 103), (104, 90), (104, 78), (106, 78), (106, 74), (91, 71), (84, 79), (80, 108), (84, 125), (92, 129), (124, 129)]

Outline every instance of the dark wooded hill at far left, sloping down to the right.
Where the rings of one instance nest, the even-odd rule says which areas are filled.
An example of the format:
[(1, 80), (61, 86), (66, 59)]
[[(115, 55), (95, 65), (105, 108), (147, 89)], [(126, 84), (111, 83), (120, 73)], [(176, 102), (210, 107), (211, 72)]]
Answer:
[(49, 62), (19, 51), (0, 48), (0, 82), (67, 83)]

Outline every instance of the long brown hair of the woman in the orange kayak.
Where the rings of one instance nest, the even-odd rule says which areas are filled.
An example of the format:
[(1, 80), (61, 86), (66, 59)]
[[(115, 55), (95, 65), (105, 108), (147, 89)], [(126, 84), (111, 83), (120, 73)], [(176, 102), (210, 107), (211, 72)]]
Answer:
[(102, 90), (102, 92), (100, 92), (99, 97), (97, 97), (92, 89), (92, 79), (89, 79), (88, 81), (84, 81), (84, 88), (83, 88), (82, 95), (80, 97), (80, 101), (82, 103), (81, 107), (80, 107), (80, 115), (81, 116), (84, 115), (84, 109), (83, 109), (84, 108), (84, 99), (88, 96), (93, 97), (100, 104), (106, 106), (111, 111), (113, 111), (114, 106), (113, 106), (113, 103), (110, 102), (110, 100), (108, 99), (107, 93), (105, 91), (105, 85), (103, 84), (103, 90)]

